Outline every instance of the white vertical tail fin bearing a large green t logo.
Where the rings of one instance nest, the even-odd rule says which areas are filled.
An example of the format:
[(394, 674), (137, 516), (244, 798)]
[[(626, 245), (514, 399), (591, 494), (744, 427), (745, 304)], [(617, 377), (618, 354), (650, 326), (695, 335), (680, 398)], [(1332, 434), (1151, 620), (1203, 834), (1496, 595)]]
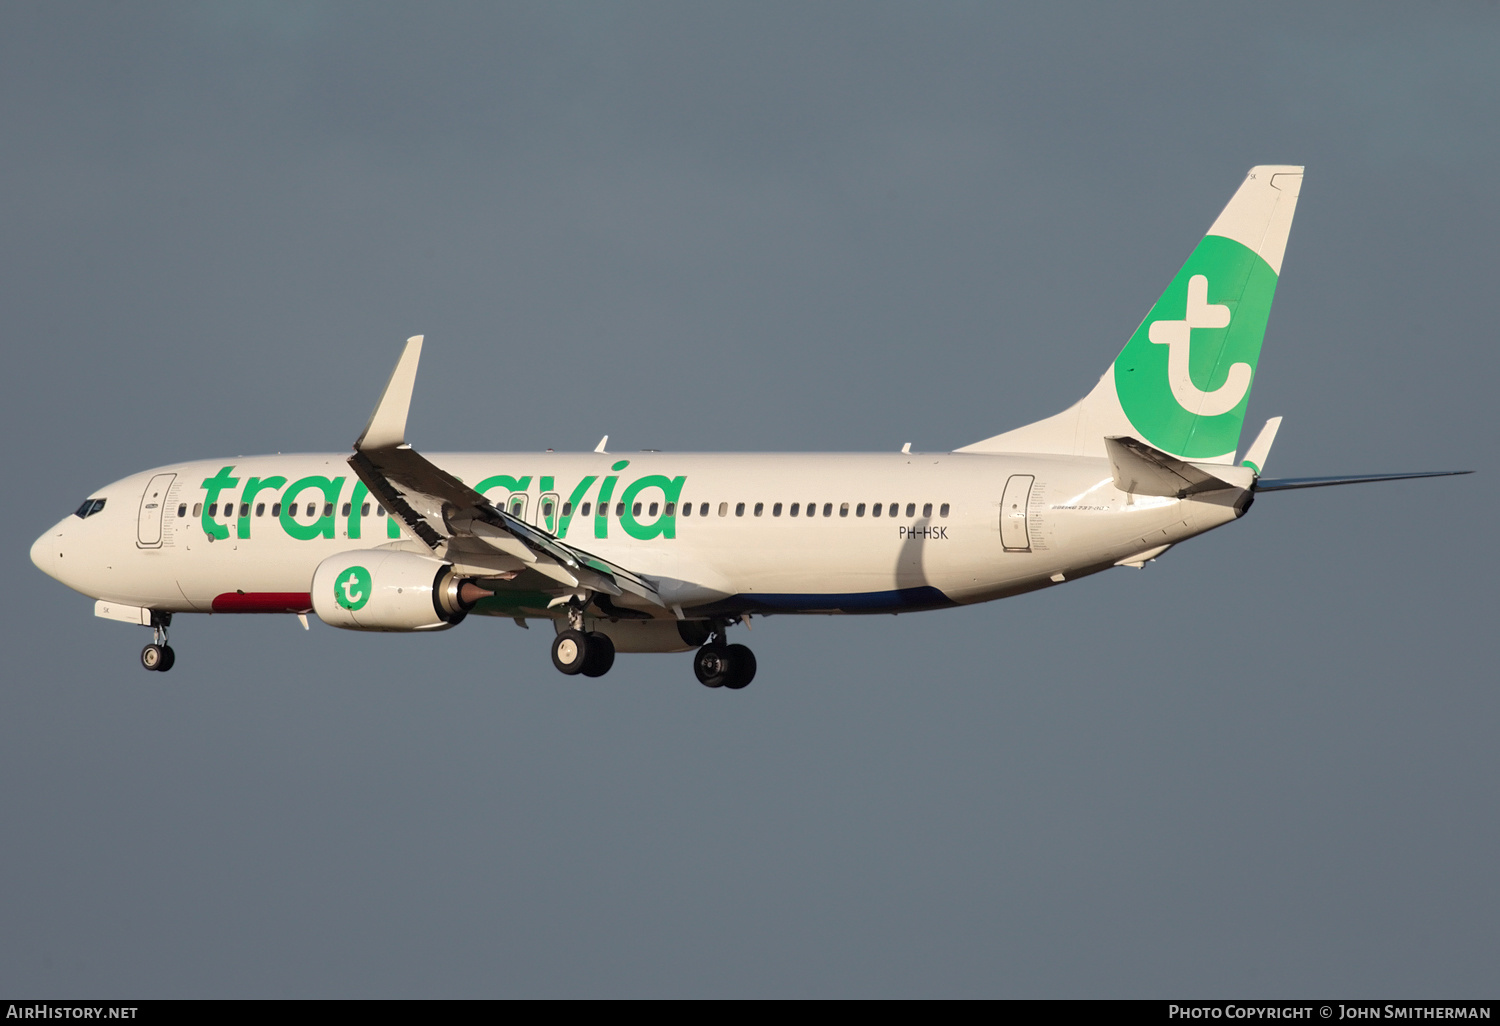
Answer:
[(1300, 188), (1299, 166), (1251, 168), (1094, 392), (957, 452), (1107, 456), (1106, 438), (1134, 435), (1233, 464)]

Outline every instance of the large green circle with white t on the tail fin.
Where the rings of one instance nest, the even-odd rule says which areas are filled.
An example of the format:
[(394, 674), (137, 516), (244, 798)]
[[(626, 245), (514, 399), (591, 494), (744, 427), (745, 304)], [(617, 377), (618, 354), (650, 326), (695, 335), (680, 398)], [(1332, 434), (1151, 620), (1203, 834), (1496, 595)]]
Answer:
[(1156, 448), (1234, 452), (1276, 292), (1276, 273), (1232, 238), (1204, 236), (1114, 362), (1114, 394)]

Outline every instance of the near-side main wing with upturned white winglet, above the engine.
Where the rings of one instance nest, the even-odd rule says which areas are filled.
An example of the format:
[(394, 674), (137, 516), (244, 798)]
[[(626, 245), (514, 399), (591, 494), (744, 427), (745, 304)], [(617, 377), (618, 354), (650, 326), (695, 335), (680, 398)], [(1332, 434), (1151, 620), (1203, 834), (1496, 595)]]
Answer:
[(536, 570), (567, 590), (628, 592), (666, 609), (640, 574), (512, 516), (406, 444), (422, 338), (406, 340), (364, 434), (354, 442), (350, 466), (370, 494), (429, 549), (456, 564), (494, 576)]

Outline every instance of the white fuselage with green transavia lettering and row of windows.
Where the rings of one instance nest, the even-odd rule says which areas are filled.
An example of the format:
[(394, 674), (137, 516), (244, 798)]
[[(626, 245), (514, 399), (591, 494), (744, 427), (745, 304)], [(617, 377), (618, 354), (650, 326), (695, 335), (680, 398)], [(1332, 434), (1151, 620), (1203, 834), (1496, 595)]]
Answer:
[[(1116, 488), (1107, 460), (1070, 456), (429, 459), (495, 506), (646, 576), (687, 616), (903, 612), (1002, 598), (1149, 558), (1233, 520), (1250, 500), (1242, 489), (1131, 495)], [(93, 496), (104, 508), (64, 518), (38, 538), (33, 561), (90, 597), (158, 612), (306, 612), (314, 572), (330, 555), (428, 552), (380, 514), (338, 453), (176, 464)], [(477, 612), (560, 615), (542, 592), (504, 588)]]

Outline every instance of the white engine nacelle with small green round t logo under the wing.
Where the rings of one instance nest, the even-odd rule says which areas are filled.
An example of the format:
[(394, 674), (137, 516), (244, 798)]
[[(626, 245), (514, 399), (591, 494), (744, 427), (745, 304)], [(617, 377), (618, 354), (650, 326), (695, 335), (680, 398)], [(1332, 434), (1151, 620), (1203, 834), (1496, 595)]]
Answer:
[(486, 594), (453, 564), (390, 549), (340, 552), (312, 574), (312, 610), (345, 630), (447, 630)]

